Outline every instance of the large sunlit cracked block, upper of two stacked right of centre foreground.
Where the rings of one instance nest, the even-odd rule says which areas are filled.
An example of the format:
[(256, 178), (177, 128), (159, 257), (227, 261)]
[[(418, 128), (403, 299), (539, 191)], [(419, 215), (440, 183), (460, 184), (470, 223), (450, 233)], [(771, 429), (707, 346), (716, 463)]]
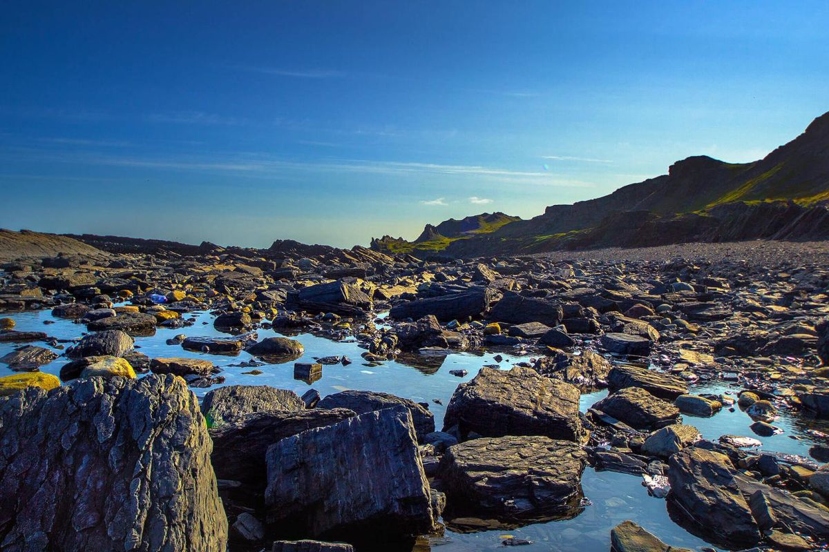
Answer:
[(481, 368), (478, 376), (455, 390), (446, 409), (444, 431), (458, 425), (461, 434), (487, 437), (545, 435), (578, 441), (579, 390), (532, 368), (509, 371)]

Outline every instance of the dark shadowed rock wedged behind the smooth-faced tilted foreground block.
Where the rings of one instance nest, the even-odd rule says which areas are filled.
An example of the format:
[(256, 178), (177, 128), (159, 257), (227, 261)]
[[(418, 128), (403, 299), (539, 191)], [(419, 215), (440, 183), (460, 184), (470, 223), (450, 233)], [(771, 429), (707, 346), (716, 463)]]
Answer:
[(261, 491), (266, 485), (265, 453), (279, 439), (337, 424), (356, 415), (353, 410), (269, 410), (235, 417), (210, 430), (211, 462), (216, 477), (245, 483)]

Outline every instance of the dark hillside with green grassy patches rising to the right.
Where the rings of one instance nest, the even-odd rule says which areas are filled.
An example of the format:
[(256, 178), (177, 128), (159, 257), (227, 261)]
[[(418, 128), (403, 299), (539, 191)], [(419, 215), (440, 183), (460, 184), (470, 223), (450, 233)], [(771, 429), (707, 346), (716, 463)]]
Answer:
[(432, 237), (429, 243), (440, 257), (477, 257), (757, 238), (825, 239), (827, 200), (829, 113), (759, 161), (692, 156), (676, 161), (667, 175), (597, 199), (550, 205), (544, 214), (492, 232), (463, 240)]

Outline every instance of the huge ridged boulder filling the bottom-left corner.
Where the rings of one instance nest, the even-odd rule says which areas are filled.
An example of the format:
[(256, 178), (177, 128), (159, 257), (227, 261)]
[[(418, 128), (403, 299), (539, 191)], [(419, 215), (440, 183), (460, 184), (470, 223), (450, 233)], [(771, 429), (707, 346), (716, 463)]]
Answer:
[(3, 550), (225, 551), (211, 439), (182, 379), (29, 387), (0, 422)]

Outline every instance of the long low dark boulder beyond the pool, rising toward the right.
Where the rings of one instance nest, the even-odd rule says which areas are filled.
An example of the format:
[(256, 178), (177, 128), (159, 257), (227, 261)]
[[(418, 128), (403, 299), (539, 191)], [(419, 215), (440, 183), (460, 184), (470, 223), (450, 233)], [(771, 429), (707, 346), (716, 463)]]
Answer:
[(487, 313), (497, 297), (496, 290), (475, 286), (458, 293), (400, 303), (392, 307), (389, 316), (398, 320), (406, 318), (417, 320), (434, 314), (435, 318), (441, 322), (478, 318)]

